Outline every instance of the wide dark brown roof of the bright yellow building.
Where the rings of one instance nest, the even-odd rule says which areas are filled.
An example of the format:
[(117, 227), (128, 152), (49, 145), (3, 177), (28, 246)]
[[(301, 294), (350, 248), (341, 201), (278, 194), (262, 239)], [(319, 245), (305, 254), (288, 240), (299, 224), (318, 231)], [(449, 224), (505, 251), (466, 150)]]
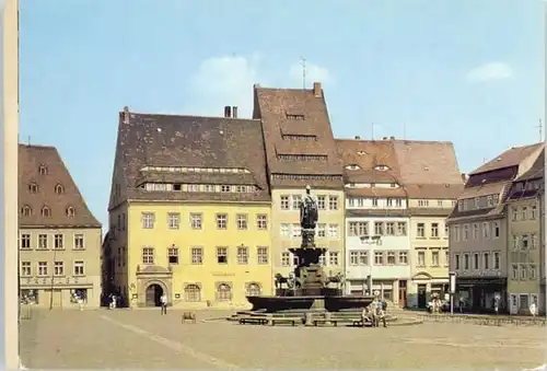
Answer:
[[(117, 152), (129, 199), (269, 201), (260, 120), (230, 117), (119, 115)], [(242, 169), (229, 172), (163, 172), (150, 167)], [(256, 186), (254, 193), (151, 192), (143, 183)]]

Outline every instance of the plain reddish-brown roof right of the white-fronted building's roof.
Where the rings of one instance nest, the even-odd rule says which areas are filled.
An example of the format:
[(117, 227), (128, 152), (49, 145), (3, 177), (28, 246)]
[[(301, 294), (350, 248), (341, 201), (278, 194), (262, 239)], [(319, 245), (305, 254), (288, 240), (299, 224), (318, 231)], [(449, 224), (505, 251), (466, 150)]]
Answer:
[(394, 140), (403, 183), (463, 184), (452, 142)]

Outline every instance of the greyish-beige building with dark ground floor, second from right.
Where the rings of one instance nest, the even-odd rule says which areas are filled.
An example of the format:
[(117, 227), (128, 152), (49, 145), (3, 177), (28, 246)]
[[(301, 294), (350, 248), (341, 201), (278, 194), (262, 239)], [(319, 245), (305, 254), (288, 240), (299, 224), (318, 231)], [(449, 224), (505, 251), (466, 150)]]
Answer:
[(466, 310), (492, 311), (499, 297), (500, 311), (509, 311), (505, 201), (512, 182), (531, 169), (542, 147), (511, 148), (472, 172), (449, 218), (456, 300)]

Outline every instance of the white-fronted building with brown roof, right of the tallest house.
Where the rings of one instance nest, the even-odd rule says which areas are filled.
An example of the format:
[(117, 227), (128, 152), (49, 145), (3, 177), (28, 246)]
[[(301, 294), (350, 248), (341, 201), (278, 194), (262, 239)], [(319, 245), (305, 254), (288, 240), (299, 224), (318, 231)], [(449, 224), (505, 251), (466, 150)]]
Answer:
[(407, 195), (391, 140), (336, 140), (346, 188), (346, 291), (406, 305)]

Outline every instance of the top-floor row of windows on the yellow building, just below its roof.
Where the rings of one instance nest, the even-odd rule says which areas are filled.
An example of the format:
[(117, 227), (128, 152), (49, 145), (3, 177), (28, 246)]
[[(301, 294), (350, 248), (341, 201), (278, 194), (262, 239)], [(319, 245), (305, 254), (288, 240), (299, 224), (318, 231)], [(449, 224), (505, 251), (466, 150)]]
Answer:
[[(124, 219), (124, 220), (121, 220)], [(153, 229), (155, 227), (155, 213), (154, 212), (142, 212), (141, 222), (143, 229)], [(181, 213), (179, 212), (168, 212), (167, 213), (167, 228), (171, 230), (181, 229)], [(216, 213), (214, 224), (219, 230), (226, 230), (229, 228), (229, 216), (228, 213)], [(257, 230), (266, 231), (268, 229), (268, 216), (265, 213), (258, 213), (255, 216), (255, 223)], [(189, 227), (193, 230), (203, 229), (203, 215), (202, 213), (190, 213), (189, 215)], [(237, 213), (235, 216), (235, 227), (237, 230), (243, 231), (249, 229), (249, 220), (247, 213)], [(125, 230), (125, 215), (118, 216), (118, 230)]]

